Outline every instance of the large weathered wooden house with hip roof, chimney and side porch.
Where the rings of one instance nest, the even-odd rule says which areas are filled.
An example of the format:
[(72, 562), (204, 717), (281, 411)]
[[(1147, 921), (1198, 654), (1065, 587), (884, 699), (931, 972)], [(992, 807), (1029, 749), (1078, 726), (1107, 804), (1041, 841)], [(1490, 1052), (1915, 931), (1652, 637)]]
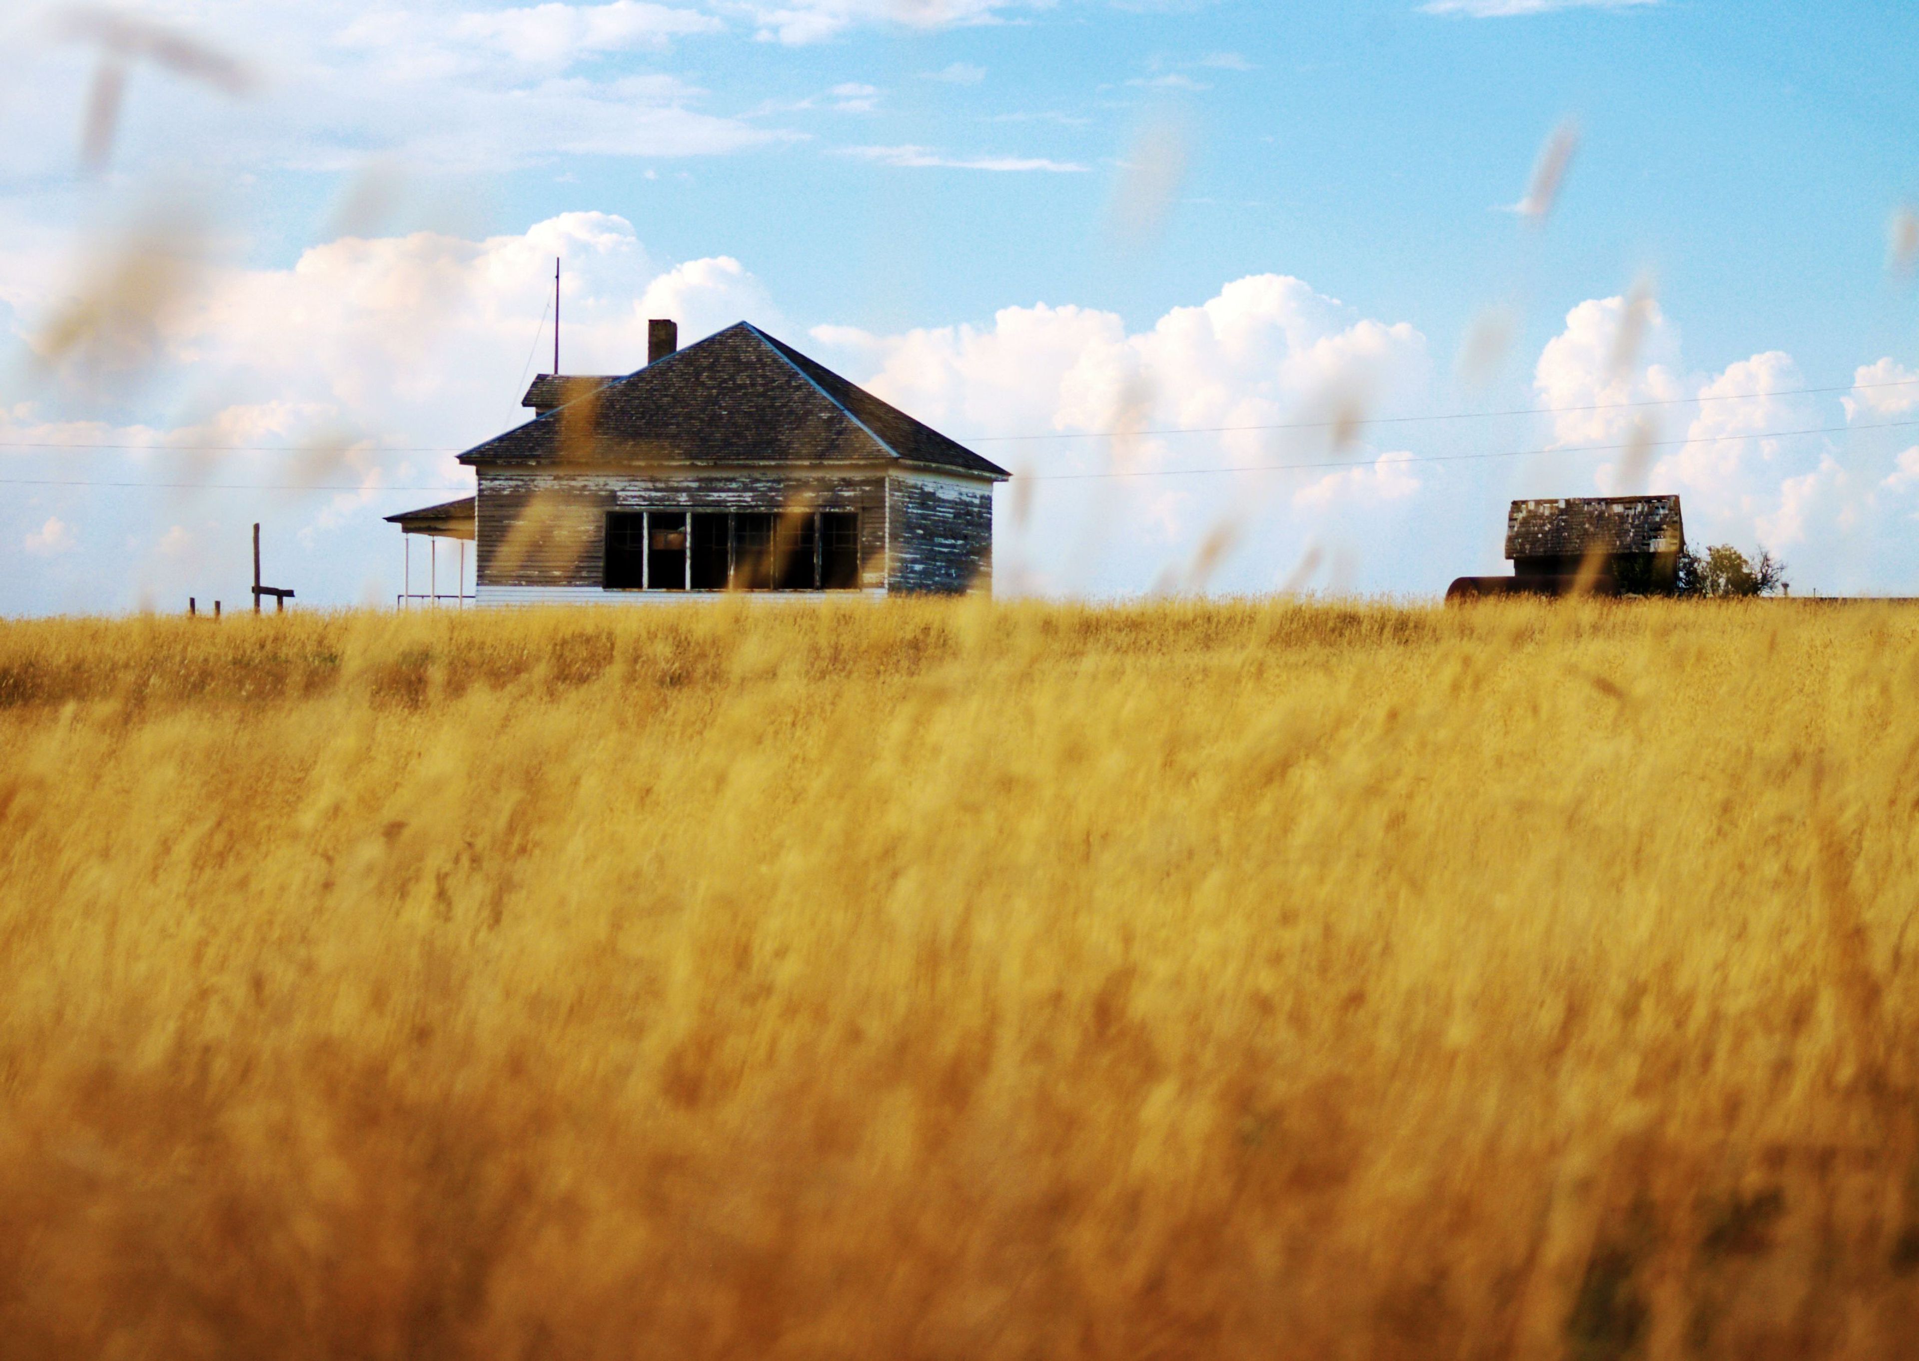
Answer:
[(480, 605), (992, 587), (1009, 474), (746, 322), (685, 349), (649, 322), (639, 372), (541, 374), (524, 405), (461, 455), (474, 497), (388, 516), (470, 539)]

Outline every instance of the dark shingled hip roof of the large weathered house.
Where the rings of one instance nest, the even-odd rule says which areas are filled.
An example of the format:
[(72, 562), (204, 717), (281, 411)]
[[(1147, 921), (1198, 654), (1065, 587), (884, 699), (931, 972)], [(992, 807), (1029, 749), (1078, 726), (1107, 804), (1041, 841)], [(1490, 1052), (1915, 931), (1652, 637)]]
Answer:
[(910, 465), (1011, 476), (739, 322), (487, 440), (464, 465)]

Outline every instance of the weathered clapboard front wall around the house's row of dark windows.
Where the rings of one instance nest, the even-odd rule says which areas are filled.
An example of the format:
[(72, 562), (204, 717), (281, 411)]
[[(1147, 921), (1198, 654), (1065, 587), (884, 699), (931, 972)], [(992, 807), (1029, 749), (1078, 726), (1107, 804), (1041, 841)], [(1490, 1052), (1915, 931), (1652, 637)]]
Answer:
[(480, 468), (478, 584), (599, 587), (608, 511), (860, 511), (860, 585), (887, 585), (881, 474), (695, 472), (649, 476)]

